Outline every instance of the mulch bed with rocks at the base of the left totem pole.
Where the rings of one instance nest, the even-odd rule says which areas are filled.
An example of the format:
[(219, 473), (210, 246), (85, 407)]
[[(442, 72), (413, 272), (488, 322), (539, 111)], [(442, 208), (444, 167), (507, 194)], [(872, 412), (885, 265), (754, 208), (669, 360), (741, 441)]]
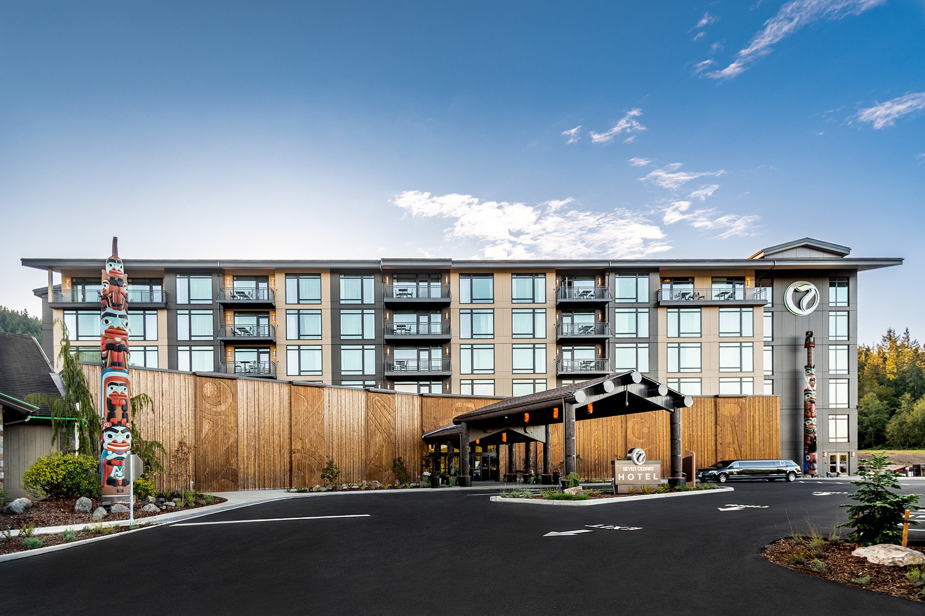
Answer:
[[(135, 501), (135, 523), (136, 525), (143, 525), (144, 518), (157, 515), (158, 513), (171, 513), (187, 509), (197, 509), (199, 507), (204, 507), (206, 504), (215, 505), (225, 501), (227, 501), (227, 499), (214, 496), (212, 497), (211, 502), (197, 501), (197, 503), (193, 506), (188, 505), (185, 507), (166, 507), (166, 509), (157, 512), (142, 512), (142, 507), (147, 504), (147, 501)], [(93, 500), (93, 509), (91, 509), (89, 513), (74, 511), (74, 504), (76, 502), (77, 499), (35, 501), (32, 503), (32, 506), (29, 509), (19, 515), (14, 513), (0, 513), (0, 533), (6, 529), (19, 530), (19, 528), (21, 528), (23, 525), (30, 524), (35, 525), (36, 528), (41, 528), (43, 526), (66, 525), (89, 526), (91, 530), (77, 531), (78, 539), (99, 537), (101, 535), (110, 535), (114, 532), (120, 533), (129, 530), (128, 525), (108, 526), (112, 522), (116, 522), (118, 520), (128, 520), (129, 513), (109, 513), (101, 521), (96, 522), (93, 520), (93, 510), (100, 506), (100, 501), (96, 499)], [(105, 530), (103, 525), (106, 525)], [(61, 533), (41, 535), (36, 533), (33, 537), (39, 537), (42, 539), (43, 547), (54, 546), (60, 543), (68, 543), (64, 540), (64, 537), (61, 537)], [(23, 547), (21, 537), (12, 537), (7, 539), (2, 534), (0, 534), (0, 554), (8, 554), (10, 552), (25, 550), (28, 549)]]

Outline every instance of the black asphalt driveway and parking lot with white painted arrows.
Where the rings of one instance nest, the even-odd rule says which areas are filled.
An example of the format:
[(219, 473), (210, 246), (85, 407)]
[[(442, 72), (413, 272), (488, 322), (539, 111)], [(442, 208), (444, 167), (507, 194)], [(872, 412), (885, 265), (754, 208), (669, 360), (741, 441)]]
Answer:
[[(591, 507), (489, 501), (497, 490), (298, 495), (0, 562), (0, 605), (44, 615), (922, 613), (761, 557), (793, 530), (827, 536), (844, 521), (847, 481), (732, 485)], [(555, 534), (572, 531), (583, 532)]]

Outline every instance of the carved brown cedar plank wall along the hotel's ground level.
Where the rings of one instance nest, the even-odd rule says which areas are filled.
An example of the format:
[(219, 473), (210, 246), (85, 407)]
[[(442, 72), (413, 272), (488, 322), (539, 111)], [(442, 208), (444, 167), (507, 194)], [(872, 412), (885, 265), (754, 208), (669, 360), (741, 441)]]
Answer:
[[(83, 368), (97, 399), (99, 367)], [(421, 434), (497, 400), (137, 368), (130, 377), (132, 395), (147, 393), (154, 400), (154, 413), (136, 412), (135, 421), (145, 438), (164, 444), (165, 472), (155, 477), (163, 489), (173, 487), (172, 465), (183, 464), (172, 459), (181, 440), (191, 448), (189, 475), (201, 491), (314, 486), (328, 458), (339, 465), (341, 483), (392, 481), (392, 460), (400, 456), (416, 478), (425, 455)], [(693, 407), (681, 411), (682, 447), (697, 453), (698, 466), (780, 457), (779, 405), (777, 396), (696, 397)], [(579, 475), (610, 477), (611, 460), (623, 459), (633, 447), (661, 460), (667, 473), (670, 417), (655, 411), (579, 421)], [(551, 433), (555, 467), (562, 459), (561, 424)], [(533, 446), (539, 468), (542, 446)], [(503, 473), (508, 448), (499, 450)], [(515, 455), (515, 467), (523, 468), (524, 444), (515, 446)]]

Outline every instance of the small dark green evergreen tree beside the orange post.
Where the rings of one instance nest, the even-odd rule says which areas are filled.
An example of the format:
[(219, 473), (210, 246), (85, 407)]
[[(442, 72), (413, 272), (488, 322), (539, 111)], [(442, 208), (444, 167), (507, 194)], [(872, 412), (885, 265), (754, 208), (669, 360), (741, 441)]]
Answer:
[[(881, 543), (900, 543), (903, 537), (903, 522), (907, 509), (919, 503), (919, 494), (897, 494), (894, 489), (901, 489), (899, 481), (887, 465), (885, 455), (874, 454), (867, 468), (860, 471), (859, 479), (852, 481), (857, 492), (848, 498), (858, 501), (853, 505), (840, 505), (848, 508), (849, 520), (841, 526), (851, 528), (847, 539), (862, 546)], [(910, 520), (910, 525), (918, 524)]]

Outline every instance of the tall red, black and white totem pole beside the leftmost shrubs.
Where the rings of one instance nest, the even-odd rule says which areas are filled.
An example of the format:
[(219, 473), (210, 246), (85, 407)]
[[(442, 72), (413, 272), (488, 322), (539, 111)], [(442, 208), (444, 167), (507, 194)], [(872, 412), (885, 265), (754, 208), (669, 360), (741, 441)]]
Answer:
[(105, 501), (130, 500), (127, 459), (131, 451), (129, 408), (129, 287), (125, 266), (113, 254), (103, 270), (100, 293), (100, 483)]

